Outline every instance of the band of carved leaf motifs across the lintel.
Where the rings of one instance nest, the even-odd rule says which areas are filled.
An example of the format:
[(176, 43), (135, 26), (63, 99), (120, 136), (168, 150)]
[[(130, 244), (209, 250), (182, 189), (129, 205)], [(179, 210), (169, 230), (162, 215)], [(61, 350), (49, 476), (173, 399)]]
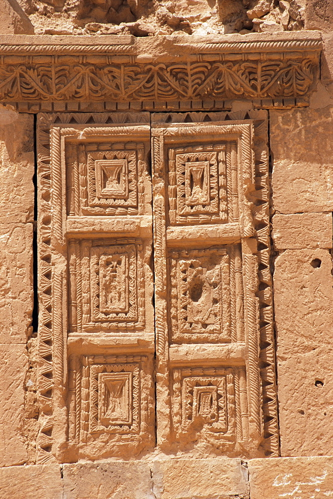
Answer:
[(1, 100), (198, 100), (297, 97), (314, 82), (310, 58), (179, 64), (8, 64)]

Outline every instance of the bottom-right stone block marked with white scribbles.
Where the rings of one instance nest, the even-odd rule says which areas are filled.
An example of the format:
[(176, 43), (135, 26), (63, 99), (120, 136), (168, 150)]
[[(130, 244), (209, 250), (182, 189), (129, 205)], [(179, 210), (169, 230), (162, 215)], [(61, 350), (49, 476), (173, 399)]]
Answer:
[(252, 459), (248, 466), (251, 499), (333, 496), (332, 457)]

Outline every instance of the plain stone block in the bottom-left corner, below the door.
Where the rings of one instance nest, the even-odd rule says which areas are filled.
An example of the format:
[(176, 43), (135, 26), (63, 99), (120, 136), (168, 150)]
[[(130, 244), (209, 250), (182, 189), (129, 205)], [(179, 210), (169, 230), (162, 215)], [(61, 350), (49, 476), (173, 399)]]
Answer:
[(64, 499), (59, 465), (0, 468), (0, 499)]

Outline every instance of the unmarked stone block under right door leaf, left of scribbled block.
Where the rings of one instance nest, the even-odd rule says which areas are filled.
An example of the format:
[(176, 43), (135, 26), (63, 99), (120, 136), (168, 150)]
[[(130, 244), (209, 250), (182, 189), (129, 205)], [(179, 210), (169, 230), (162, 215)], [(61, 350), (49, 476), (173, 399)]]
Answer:
[(168, 459), (153, 464), (156, 499), (246, 496), (247, 470), (240, 459)]

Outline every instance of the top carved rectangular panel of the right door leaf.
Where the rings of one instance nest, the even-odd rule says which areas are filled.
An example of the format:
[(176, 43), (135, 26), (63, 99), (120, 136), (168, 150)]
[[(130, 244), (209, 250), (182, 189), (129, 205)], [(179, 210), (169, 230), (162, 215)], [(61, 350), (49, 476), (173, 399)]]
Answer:
[(226, 147), (169, 149), (170, 224), (226, 223)]

